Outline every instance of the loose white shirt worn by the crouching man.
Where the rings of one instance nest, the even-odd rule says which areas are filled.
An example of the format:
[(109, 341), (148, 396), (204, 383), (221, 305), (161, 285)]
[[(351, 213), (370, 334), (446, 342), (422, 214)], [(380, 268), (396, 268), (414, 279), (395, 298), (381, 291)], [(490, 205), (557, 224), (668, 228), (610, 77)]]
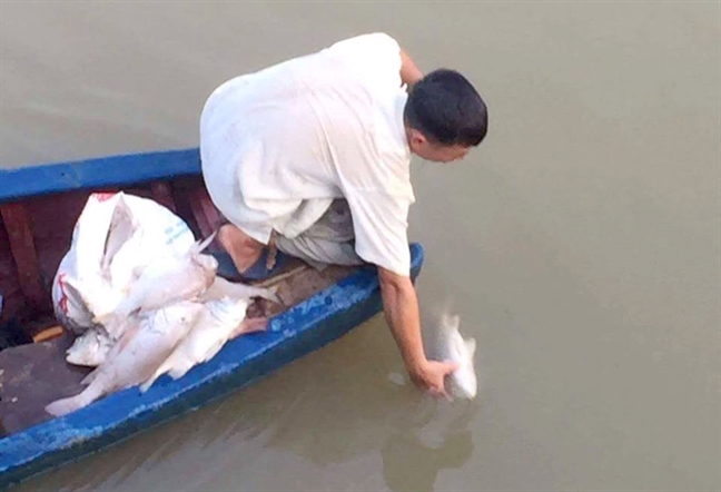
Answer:
[[(408, 275), (415, 197), (401, 63), (398, 43), (373, 33), (221, 85), (200, 121), (218, 208), (267, 244), (273, 229), (295, 237), (344, 197), (358, 256)], [(304, 200), (314, 206), (298, 214)]]

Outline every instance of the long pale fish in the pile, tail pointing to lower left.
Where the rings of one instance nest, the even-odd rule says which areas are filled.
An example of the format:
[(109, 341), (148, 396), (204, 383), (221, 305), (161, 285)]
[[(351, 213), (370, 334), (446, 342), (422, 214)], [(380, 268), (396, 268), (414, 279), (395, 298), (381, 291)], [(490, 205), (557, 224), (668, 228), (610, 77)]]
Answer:
[(201, 304), (182, 302), (132, 316), (136, 319), (132, 326), (112, 347), (106, 361), (83, 381), (88, 387), (76, 396), (50, 403), (46, 412), (55, 416), (65, 415), (148, 380), (192, 328), (201, 311)]

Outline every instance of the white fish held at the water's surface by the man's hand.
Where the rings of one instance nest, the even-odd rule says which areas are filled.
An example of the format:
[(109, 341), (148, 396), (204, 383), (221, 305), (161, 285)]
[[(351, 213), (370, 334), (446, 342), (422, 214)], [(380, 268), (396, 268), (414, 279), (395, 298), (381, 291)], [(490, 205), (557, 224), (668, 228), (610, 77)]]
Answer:
[(454, 397), (473, 400), (478, 385), (473, 365), (476, 342), (474, 338), (463, 340), (458, 332), (460, 325), (458, 316), (443, 316), (438, 334), (438, 356), (442, 361), (458, 363), (458, 368), (446, 380), (446, 391), (450, 390), (448, 393)]

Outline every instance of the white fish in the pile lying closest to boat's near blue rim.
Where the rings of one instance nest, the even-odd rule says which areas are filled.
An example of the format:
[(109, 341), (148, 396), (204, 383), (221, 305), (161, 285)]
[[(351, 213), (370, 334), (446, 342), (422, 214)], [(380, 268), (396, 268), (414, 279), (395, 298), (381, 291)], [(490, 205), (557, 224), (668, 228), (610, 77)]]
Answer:
[(147, 391), (165, 373), (174, 380), (182, 377), (196, 364), (213, 358), (228, 340), (241, 333), (265, 329), (266, 318), (245, 319), (248, 304), (247, 298), (228, 297), (206, 302), (190, 333), (140, 390)]

